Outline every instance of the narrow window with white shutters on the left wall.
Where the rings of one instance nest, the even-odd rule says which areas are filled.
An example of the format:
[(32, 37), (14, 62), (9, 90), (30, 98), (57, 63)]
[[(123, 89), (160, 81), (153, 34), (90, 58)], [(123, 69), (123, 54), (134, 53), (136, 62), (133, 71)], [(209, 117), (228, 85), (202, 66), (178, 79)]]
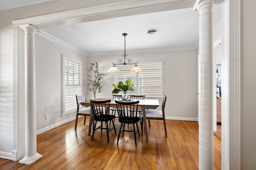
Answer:
[(82, 61), (62, 55), (62, 115), (76, 112), (76, 95), (82, 94)]

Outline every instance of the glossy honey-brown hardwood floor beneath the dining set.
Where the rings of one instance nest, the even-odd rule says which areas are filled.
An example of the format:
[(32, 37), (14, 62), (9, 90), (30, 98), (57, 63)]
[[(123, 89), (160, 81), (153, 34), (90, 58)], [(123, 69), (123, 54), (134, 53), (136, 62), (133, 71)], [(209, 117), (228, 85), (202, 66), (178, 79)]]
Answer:
[[(37, 135), (37, 152), (43, 157), (31, 165), (0, 158), (1, 170), (197, 170), (198, 122), (166, 120), (168, 138), (162, 121), (151, 120), (148, 142), (145, 136), (120, 135), (110, 131), (109, 143), (106, 130), (97, 130), (93, 141), (88, 136), (88, 120), (83, 117)], [(118, 119), (115, 121), (119, 131)], [(140, 127), (140, 125), (139, 125)], [(132, 128), (130, 126), (129, 128)], [(140, 129), (141, 132), (141, 129)], [(214, 135), (214, 170), (221, 169), (221, 141)]]

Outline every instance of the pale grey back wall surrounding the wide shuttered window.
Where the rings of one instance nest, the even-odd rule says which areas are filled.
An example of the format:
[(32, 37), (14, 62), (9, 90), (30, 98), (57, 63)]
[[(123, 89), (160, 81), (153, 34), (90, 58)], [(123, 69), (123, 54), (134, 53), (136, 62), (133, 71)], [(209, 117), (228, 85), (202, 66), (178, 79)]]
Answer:
[[(156, 53), (129, 53), (133, 61), (164, 59), (164, 95), (166, 100), (167, 119), (197, 120), (197, 50), (166, 51)], [(96, 98), (111, 98), (114, 74), (107, 72), (112, 62), (116, 62), (120, 55), (91, 56), (90, 63), (98, 62), (99, 69), (104, 73), (103, 88)], [(93, 98), (92, 92), (87, 92)], [(160, 105), (162, 100), (159, 101)], [(158, 107), (160, 109), (160, 107)]]

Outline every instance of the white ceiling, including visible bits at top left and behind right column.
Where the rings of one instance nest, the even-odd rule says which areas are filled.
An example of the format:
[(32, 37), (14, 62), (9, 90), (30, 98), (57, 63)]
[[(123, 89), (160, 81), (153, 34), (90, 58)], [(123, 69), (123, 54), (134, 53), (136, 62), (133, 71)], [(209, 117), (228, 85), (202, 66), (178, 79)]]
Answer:
[[(15, 6), (20, 0), (0, 0)], [(50, 0), (22, 0), (26, 3), (41, 3)], [(11, 4), (11, 2), (15, 2)], [(16, 6), (25, 6), (16, 4)], [(26, 4), (29, 5), (29, 4)], [(1, 10), (0, 8), (0, 10)], [(13, 7), (15, 8), (15, 7)], [(213, 8), (213, 25), (221, 19), (221, 5)], [(149, 35), (148, 29), (158, 29)], [(154, 52), (181, 49), (196, 49), (199, 41), (199, 12), (192, 8), (155, 12), (106, 20), (89, 21), (72, 25), (42, 28), (47, 33), (70, 46), (83, 51), (88, 56), (122, 53), (124, 37), (127, 33), (126, 52)]]

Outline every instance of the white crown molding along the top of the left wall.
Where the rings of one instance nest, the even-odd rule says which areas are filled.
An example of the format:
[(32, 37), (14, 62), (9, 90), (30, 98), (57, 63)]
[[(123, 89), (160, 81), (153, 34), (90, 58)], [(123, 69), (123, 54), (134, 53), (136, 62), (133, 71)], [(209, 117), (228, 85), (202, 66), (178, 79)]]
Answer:
[(52, 42), (54, 42), (54, 43), (57, 43), (57, 44), (59, 44), (59, 45), (62, 45), (62, 46), (64, 46), (64, 47), (68, 48), (68, 49), (71, 49), (71, 50), (73, 50), (73, 51), (76, 51), (76, 52), (78, 52), (78, 53), (80, 53), (80, 54), (82, 54), (82, 55), (85, 55), (85, 56), (88, 55), (88, 53), (86, 53), (85, 51), (82, 51), (82, 50), (80, 50), (80, 49), (74, 47), (73, 45), (70, 45), (69, 43), (66, 43), (66, 42), (64, 42), (64, 41), (62, 41), (62, 40), (60, 40), (60, 39), (58, 39), (58, 38), (56, 38), (56, 37), (54, 37), (54, 36), (52, 36), (52, 35), (50, 35), (50, 34), (44, 32), (44, 31), (37, 32), (36, 34), (37, 34), (37, 35), (40, 35), (41, 37), (44, 37), (44, 38), (46, 38), (46, 39), (48, 39), (48, 40), (50, 40), (50, 41), (52, 41)]

